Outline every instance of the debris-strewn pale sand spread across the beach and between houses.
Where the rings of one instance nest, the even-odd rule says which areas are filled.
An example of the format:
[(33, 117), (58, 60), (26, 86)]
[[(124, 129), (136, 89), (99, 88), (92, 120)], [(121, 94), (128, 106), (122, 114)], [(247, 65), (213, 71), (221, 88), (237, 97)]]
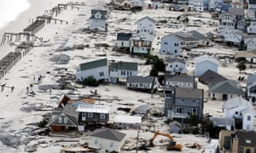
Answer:
[[(58, 14), (55, 18), (59, 20), (65, 20), (65, 23), (50, 23), (46, 24), (43, 29), (38, 31), (36, 35), (43, 37), (45, 42), (35, 42), (36, 47), (32, 48), (28, 54), (23, 56), (18, 63), (11, 68), (11, 70), (0, 80), (0, 84), (6, 84), (6, 88), (0, 93), (0, 153), (2, 152), (26, 152), (27, 146), (37, 146), (36, 152), (60, 152), (62, 145), (69, 146), (73, 144), (71, 142), (61, 142), (61, 139), (75, 140), (77, 144), (83, 144), (88, 142), (88, 134), (84, 133), (79, 138), (60, 138), (49, 137), (44, 135), (37, 135), (40, 131), (37, 124), (41, 122), (46, 114), (49, 114), (53, 110), (61, 95), (67, 94), (70, 96), (83, 96), (90, 94), (90, 91), (97, 90), (97, 93), (101, 95), (101, 99), (108, 99), (97, 101), (99, 105), (104, 105), (110, 108), (110, 122), (113, 122), (113, 117), (116, 114), (125, 114), (123, 111), (117, 111), (118, 107), (122, 104), (144, 105), (149, 104), (150, 107), (156, 111), (162, 111), (164, 107), (164, 97), (160, 94), (147, 94), (137, 91), (127, 90), (125, 86), (119, 84), (101, 85), (97, 88), (84, 87), (81, 88), (79, 84), (75, 83), (71, 78), (76, 73), (76, 69), (80, 63), (108, 58), (108, 60), (115, 61), (133, 61), (137, 62), (138, 76), (148, 75), (151, 69), (151, 65), (145, 65), (145, 59), (131, 56), (130, 54), (122, 54), (113, 51), (113, 47), (116, 42), (116, 33), (123, 32), (135, 32), (137, 20), (148, 15), (154, 20), (168, 19), (170, 13), (166, 9), (154, 10), (145, 9), (143, 12), (137, 14), (129, 11), (109, 11), (108, 18), (108, 32), (94, 33), (84, 32), (84, 28), (88, 28), (88, 20), (90, 18), (91, 8), (107, 8), (108, 0), (90, 1), (90, 0), (77, 0), (79, 4), (77, 7), (67, 7), (67, 10), (63, 10), (61, 14)], [(0, 36), (3, 36), (4, 32), (20, 32), (26, 26), (28, 26), (32, 19), (35, 19), (38, 15), (44, 14), (45, 10), (55, 7), (57, 3), (69, 3), (68, 0), (45, 0), (44, 3), (37, 0), (29, 0), (31, 3), (30, 8), (20, 14), (17, 20), (14, 20), (7, 27), (1, 29)], [(172, 17), (176, 18), (181, 13), (173, 13)], [(125, 20), (124, 20), (125, 19)], [(205, 20), (206, 23), (213, 22), (210, 14), (203, 14), (201, 17), (195, 15), (190, 20)], [(182, 31), (183, 25), (180, 25), (178, 29), (159, 26), (156, 29), (156, 36), (154, 38), (154, 51), (152, 54), (159, 54), (160, 40), (157, 37), (163, 37), (166, 34), (174, 31)], [(214, 31), (216, 27), (209, 26), (207, 24), (198, 27), (187, 27), (189, 30), (198, 30), (203, 33), (207, 31)], [(107, 43), (109, 47), (96, 47), (96, 43)], [(83, 49), (63, 49), (73, 48), (76, 45), (88, 45)], [(222, 51), (222, 46), (216, 46), (214, 52), (217, 54), (235, 54), (238, 50), (233, 48), (226, 48)], [(15, 46), (9, 45), (7, 42), (0, 47), (0, 58), (3, 58), (9, 52), (15, 51)], [(198, 53), (207, 53), (212, 51), (210, 48), (197, 49)], [(63, 60), (63, 63), (59, 63), (61, 55), (67, 55), (68, 59)], [(102, 57), (103, 56), (103, 57)], [(160, 55), (164, 58), (164, 55)], [(193, 59), (189, 59), (187, 65), (189, 74), (192, 74), (194, 67), (192, 67)], [(220, 66), (219, 71), (222, 75), (232, 79), (236, 79), (239, 75), (239, 71), (234, 63), (230, 63), (229, 67)], [(248, 70), (253, 71), (253, 70)], [(232, 73), (232, 74), (230, 74)], [(41, 77), (41, 78), (40, 78)], [(40, 78), (40, 79), (39, 79)], [(72, 80), (69, 81), (68, 79)], [(64, 89), (52, 89), (50, 87), (55, 85), (60, 86), (59, 82), (68, 82), (68, 87)], [(31, 86), (32, 84), (32, 86)], [(14, 87), (12, 91), (10, 87)], [(45, 88), (45, 89), (39, 89)], [(201, 84), (199, 88), (207, 88)], [(32, 94), (28, 94), (32, 93)], [(218, 105), (216, 105), (218, 104)], [(205, 104), (205, 113), (210, 113), (214, 116), (221, 116), (223, 102), (208, 101)], [(145, 124), (147, 124), (146, 122)], [(168, 126), (164, 125), (163, 121), (155, 119), (152, 126), (154, 129), (168, 132)], [(146, 126), (144, 126), (146, 128)], [(137, 130), (124, 130), (127, 133), (127, 139), (135, 139), (137, 137)], [(2, 137), (1, 137), (2, 136)], [(144, 139), (150, 139), (153, 133), (142, 130), (141, 136)], [(207, 147), (207, 138), (198, 137), (196, 135), (175, 135), (178, 143), (190, 143), (198, 142), (202, 144), (202, 148)], [(6, 144), (3, 139), (8, 139)], [(156, 139), (158, 141), (159, 139)], [(7, 145), (11, 144), (11, 145)], [(124, 151), (124, 152), (135, 152)], [(141, 151), (143, 152), (143, 151)], [(149, 151), (150, 152), (150, 151)], [(165, 152), (162, 147), (155, 147), (151, 152)], [(175, 152), (175, 151), (174, 151)], [(195, 149), (185, 148), (183, 152), (201, 152)]]

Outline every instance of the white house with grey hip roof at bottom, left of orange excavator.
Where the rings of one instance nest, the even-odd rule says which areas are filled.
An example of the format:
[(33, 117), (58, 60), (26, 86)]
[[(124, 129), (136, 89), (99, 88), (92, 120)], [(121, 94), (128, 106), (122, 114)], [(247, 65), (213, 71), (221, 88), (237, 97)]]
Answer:
[(97, 150), (108, 150), (109, 152), (120, 152), (125, 143), (125, 133), (113, 129), (96, 129), (90, 134), (89, 147)]

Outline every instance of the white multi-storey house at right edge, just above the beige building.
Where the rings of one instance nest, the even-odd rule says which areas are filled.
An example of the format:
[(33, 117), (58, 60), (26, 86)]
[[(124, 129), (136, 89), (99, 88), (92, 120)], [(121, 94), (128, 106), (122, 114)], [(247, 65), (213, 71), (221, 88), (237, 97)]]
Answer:
[(254, 130), (254, 109), (252, 103), (246, 99), (237, 97), (230, 99), (223, 106), (224, 117), (235, 118), (242, 122), (242, 129), (253, 131)]

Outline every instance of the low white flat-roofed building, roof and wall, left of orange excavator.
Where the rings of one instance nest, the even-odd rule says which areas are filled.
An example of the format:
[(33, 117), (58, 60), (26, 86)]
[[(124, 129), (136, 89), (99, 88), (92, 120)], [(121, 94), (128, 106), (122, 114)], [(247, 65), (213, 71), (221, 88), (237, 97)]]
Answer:
[(115, 127), (119, 128), (139, 128), (142, 124), (142, 116), (117, 115), (113, 121)]

